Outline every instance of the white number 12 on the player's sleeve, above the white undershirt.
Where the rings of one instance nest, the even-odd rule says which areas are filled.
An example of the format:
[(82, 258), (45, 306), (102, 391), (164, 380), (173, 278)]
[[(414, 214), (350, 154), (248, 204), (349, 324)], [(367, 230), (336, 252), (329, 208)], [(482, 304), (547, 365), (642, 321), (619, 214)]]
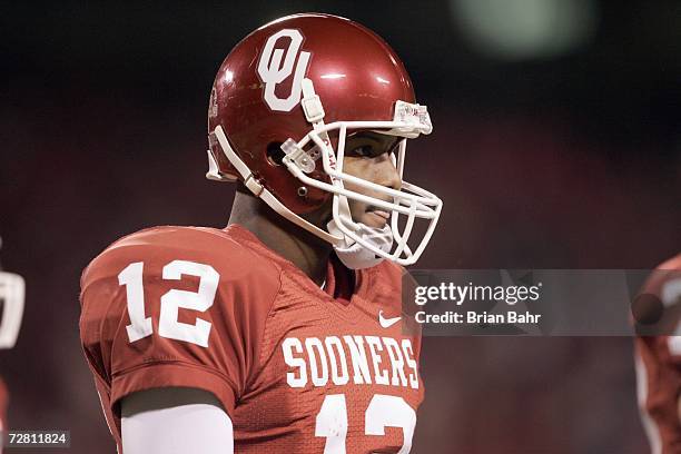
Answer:
[[(128, 265), (118, 275), (118, 284), (126, 287), (130, 325), (126, 326), (130, 342), (139, 340), (154, 333), (151, 317), (145, 315), (145, 289), (142, 270), (145, 264), (136, 261)], [(215, 300), (220, 275), (210, 265), (187, 260), (172, 260), (164, 266), (162, 277), (166, 280), (179, 280), (182, 275), (199, 278), (197, 292), (172, 289), (161, 296), (158, 334), (170, 339), (190, 342), (208, 347), (210, 322), (196, 319), (194, 325), (178, 322), (180, 308), (206, 312)]]

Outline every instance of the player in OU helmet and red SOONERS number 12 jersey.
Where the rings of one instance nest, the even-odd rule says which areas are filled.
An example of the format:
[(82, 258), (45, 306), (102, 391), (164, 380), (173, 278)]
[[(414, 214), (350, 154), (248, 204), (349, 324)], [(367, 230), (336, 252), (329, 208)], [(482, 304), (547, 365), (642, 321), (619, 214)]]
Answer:
[(119, 451), (409, 451), (424, 386), (402, 265), (442, 201), (402, 174), (431, 130), (397, 55), (354, 21), (289, 16), (231, 50), (208, 107), (228, 227), (141, 230), (83, 272)]

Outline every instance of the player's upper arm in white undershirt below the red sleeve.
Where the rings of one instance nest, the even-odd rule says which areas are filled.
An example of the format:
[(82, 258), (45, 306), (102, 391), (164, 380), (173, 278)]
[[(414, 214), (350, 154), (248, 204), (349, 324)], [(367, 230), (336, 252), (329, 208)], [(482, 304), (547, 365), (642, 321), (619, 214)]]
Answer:
[(231, 420), (211, 394), (198, 388), (141, 391), (121, 401), (126, 454), (233, 454)]

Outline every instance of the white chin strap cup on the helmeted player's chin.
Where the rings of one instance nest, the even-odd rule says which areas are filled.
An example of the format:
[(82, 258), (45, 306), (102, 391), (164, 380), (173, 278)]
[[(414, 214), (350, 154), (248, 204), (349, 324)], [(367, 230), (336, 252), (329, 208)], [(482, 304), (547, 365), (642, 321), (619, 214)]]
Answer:
[[(389, 225), (383, 228), (376, 228), (366, 226), (362, 223), (355, 223), (355, 233), (363, 240), (371, 243), (385, 253), (391, 251), (391, 247), (393, 246), (393, 233)], [(328, 231), (332, 234), (339, 231), (333, 220), (328, 223)], [(385, 257), (376, 255), (347, 236), (345, 236), (345, 243), (334, 246), (334, 250), (346, 267), (351, 269), (371, 268), (385, 259)]]

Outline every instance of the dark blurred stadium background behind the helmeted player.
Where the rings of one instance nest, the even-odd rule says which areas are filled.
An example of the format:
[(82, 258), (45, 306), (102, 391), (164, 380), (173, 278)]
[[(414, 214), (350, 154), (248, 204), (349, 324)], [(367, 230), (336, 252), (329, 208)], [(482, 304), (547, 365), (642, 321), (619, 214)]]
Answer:
[[(355, 19), (402, 56), (445, 201), (420, 268), (648, 268), (681, 250), (681, 2), (13, 2), (0, 7), (0, 235), (27, 279), (0, 352), (10, 426), (115, 452), (78, 340), (79, 276), (151, 225), (224, 226), (208, 95), (277, 17)], [(418, 155), (418, 156), (417, 156)], [(642, 453), (631, 338), (428, 338), (417, 453)]]

